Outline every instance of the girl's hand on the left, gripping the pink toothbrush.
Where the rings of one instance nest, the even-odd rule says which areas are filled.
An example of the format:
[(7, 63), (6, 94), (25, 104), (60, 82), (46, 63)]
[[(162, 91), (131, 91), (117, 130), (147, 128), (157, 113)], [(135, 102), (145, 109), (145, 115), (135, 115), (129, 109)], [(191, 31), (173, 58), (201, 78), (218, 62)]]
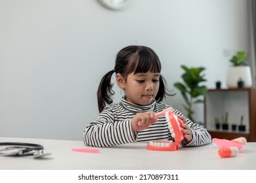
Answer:
[(138, 112), (131, 119), (131, 129), (132, 131), (140, 131), (142, 129), (148, 128), (150, 125), (156, 123), (158, 120), (154, 119), (154, 112)]

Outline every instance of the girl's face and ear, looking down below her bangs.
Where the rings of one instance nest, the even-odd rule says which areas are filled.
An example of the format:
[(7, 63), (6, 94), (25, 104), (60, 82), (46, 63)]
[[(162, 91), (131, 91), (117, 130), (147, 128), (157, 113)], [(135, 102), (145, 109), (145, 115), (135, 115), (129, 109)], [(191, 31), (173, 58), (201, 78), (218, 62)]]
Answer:
[(134, 105), (148, 105), (156, 97), (159, 89), (160, 73), (131, 73), (127, 80), (117, 76), (117, 84), (123, 88), (126, 100)]

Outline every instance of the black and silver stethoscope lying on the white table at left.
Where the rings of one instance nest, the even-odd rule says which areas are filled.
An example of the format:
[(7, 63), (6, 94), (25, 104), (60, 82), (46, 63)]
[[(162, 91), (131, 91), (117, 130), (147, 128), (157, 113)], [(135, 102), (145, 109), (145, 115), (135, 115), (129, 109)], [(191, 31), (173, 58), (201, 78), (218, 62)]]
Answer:
[(51, 155), (40, 144), (0, 142), (0, 146), (7, 146), (0, 150), (0, 156), (33, 156), (33, 158), (43, 158)]

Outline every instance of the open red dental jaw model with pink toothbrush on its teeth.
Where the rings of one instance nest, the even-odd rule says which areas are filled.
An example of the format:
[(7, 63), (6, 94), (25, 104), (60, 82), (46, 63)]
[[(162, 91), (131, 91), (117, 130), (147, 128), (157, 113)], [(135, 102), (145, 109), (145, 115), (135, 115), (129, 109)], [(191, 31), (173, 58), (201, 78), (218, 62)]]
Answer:
[(181, 127), (181, 120), (177, 114), (173, 112), (173, 108), (166, 108), (162, 112), (155, 114), (155, 119), (165, 115), (166, 122), (168, 124), (171, 137), (175, 139), (173, 141), (150, 141), (147, 145), (148, 150), (160, 150), (160, 151), (174, 151), (179, 149), (179, 144), (184, 139), (184, 133)]

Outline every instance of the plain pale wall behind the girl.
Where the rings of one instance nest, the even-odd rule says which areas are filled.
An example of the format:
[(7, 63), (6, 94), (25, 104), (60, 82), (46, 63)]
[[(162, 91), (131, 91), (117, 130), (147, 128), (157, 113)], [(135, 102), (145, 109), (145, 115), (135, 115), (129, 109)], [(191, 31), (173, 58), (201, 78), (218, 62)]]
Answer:
[[(181, 64), (205, 67), (214, 88), (230, 54), (249, 50), (247, 19), (240, 0), (133, 0), (121, 11), (96, 0), (0, 0), (0, 137), (81, 140), (98, 116), (99, 80), (129, 44), (156, 51), (169, 90)], [(166, 102), (185, 113), (179, 92)]]

